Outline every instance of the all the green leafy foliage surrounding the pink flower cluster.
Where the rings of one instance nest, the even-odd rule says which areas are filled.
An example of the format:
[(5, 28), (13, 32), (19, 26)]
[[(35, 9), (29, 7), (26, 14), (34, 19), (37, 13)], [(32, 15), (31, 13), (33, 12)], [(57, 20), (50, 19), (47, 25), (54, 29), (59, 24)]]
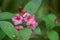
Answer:
[[(0, 0), (0, 40), (60, 40), (58, 2), (59, 0)], [(19, 13), (19, 6), (35, 15), (38, 22), (35, 30), (24, 28), (17, 31), (15, 29), (12, 17)], [(33, 36), (32, 33), (34, 33)]]

